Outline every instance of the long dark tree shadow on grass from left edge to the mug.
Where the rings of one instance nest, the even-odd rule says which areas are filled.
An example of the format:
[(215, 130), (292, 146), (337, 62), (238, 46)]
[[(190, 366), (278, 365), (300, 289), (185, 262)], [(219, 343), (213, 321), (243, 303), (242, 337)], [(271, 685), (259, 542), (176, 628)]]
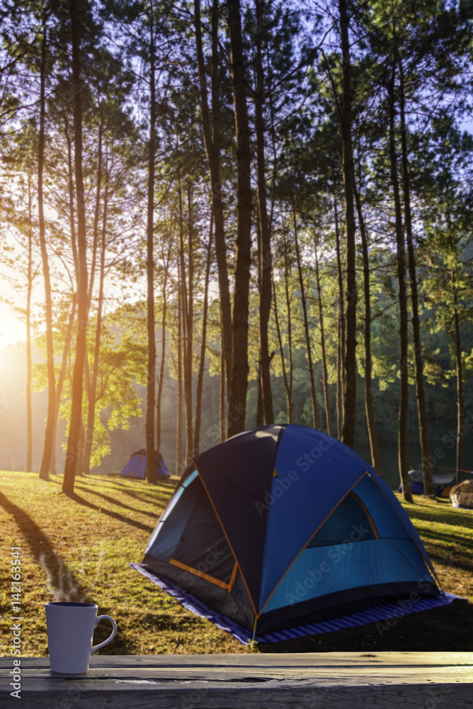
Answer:
[(81, 601), (85, 593), (72, 571), (62, 561), (41, 528), (15, 503), (0, 492), (0, 506), (13, 516), (16, 524), (33, 552), (33, 556), (47, 575), (47, 587), (54, 593), (55, 601)]

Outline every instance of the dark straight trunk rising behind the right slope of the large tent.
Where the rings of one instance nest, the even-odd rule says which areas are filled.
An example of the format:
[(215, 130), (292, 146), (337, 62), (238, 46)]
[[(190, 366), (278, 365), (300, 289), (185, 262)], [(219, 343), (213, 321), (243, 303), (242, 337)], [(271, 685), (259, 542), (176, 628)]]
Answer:
[(351, 67), (348, 38), (347, 0), (338, 0), (340, 11), (341, 49), (343, 56), (343, 107), (341, 135), (343, 146), (343, 187), (345, 191), (346, 229), (346, 342), (344, 353), (345, 386), (343, 387), (342, 441), (353, 446), (356, 407), (356, 274), (355, 274), (355, 209), (353, 206), (353, 145), (351, 138)]

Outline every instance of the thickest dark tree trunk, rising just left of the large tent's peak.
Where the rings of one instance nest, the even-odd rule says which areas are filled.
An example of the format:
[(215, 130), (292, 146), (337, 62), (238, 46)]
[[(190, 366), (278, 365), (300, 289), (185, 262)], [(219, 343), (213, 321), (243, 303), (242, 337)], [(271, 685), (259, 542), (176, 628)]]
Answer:
[(228, 27), (236, 129), (236, 257), (232, 314), (232, 373), (227, 435), (244, 431), (248, 386), (248, 317), (251, 267), (251, 149), (239, 0), (228, 0)]

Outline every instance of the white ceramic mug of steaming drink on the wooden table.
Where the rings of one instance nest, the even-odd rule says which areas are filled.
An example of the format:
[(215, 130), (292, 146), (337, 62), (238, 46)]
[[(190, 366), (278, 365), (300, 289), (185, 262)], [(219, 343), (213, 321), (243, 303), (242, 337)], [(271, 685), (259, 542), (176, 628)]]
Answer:
[[(113, 640), (117, 624), (110, 615), (98, 615), (95, 603), (46, 603), (47, 642), (53, 672), (82, 674), (89, 669), (91, 654)], [(93, 630), (100, 620), (110, 620), (110, 637), (93, 645)]]

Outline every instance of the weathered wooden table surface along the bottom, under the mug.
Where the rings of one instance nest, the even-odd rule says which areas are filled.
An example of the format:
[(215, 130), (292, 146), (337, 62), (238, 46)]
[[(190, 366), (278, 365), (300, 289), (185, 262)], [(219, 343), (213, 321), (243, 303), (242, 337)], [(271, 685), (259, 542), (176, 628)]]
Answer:
[(0, 709), (473, 709), (473, 652), (102, 655), (83, 675), (0, 658)]

